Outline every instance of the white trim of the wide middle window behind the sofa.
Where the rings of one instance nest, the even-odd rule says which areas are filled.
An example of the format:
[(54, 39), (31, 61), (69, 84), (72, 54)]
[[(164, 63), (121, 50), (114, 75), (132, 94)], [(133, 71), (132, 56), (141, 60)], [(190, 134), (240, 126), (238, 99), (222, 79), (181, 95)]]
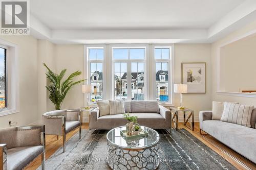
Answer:
[[(144, 59), (116, 59), (114, 60), (113, 58), (113, 48), (144, 48), (145, 49), (145, 58)], [(114, 70), (114, 63), (115, 62), (126, 62), (127, 63), (127, 80), (131, 79), (131, 70), (128, 68), (131, 68), (131, 63), (132, 62), (143, 62), (144, 63), (144, 100), (149, 99), (149, 84), (148, 84), (148, 78), (147, 78), (147, 62), (148, 62), (148, 44), (110, 44), (109, 45), (109, 51), (110, 51), (110, 58), (111, 58), (111, 66), (112, 66), (112, 71), (111, 71), (111, 98), (112, 100), (115, 99), (114, 96), (114, 84), (115, 84), (115, 70)], [(132, 89), (132, 84), (127, 82), (127, 99), (131, 99), (131, 91)]]

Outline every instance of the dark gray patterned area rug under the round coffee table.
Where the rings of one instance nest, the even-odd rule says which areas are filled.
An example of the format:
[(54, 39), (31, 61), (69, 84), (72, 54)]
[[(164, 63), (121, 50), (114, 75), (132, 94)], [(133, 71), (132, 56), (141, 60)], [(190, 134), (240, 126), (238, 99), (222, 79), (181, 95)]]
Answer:
[[(106, 163), (106, 133), (82, 131), (66, 142), (66, 152), (59, 148), (48, 160), (46, 169), (110, 169)], [(185, 129), (160, 134), (158, 169), (236, 169)], [(40, 167), (38, 168), (40, 169)]]

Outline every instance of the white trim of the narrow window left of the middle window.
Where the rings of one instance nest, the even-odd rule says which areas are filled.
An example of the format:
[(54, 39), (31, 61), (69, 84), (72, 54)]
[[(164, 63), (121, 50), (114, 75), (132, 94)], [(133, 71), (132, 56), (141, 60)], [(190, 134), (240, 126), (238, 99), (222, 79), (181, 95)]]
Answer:
[[(103, 49), (103, 60), (89, 60), (89, 49), (90, 48), (102, 48)], [(91, 73), (90, 73), (90, 63), (102, 63), (102, 99), (106, 100), (108, 99), (107, 93), (106, 93), (106, 45), (105, 44), (84, 44), (84, 79), (87, 79), (87, 81), (84, 84), (90, 84), (91, 80)], [(87, 104), (87, 95), (90, 96), (90, 94), (84, 94), (84, 106)], [(88, 101), (89, 106), (97, 106), (97, 104), (91, 103), (91, 100)]]

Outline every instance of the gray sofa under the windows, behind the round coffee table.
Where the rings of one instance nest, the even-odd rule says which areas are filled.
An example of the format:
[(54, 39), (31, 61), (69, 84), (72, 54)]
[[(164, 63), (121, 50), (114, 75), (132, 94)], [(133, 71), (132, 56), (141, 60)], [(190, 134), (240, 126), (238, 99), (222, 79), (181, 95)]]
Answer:
[[(126, 113), (138, 116), (141, 126), (153, 129), (170, 129), (171, 113), (157, 101), (124, 101)], [(124, 126), (127, 120), (122, 114), (100, 116), (99, 108), (91, 111), (90, 129), (113, 129)]]

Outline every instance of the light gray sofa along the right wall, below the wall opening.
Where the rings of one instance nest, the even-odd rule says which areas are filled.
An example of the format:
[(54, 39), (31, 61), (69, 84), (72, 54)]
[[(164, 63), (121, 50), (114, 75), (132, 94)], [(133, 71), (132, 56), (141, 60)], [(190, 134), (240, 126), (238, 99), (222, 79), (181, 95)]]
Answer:
[(222, 122), (221, 120), (212, 120), (211, 117), (212, 111), (201, 111), (199, 113), (200, 134), (203, 130), (232, 150), (256, 163), (256, 109), (254, 108), (251, 114), (251, 128)]

